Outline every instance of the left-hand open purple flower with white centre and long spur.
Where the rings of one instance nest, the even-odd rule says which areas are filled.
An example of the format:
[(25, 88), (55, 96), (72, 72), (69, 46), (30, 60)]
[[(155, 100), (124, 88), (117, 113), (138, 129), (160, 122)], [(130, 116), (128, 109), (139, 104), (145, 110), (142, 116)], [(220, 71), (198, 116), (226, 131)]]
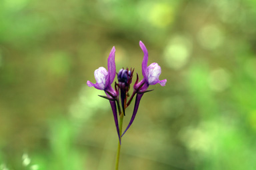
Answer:
[[(107, 71), (108, 69), (108, 71)], [(113, 83), (115, 79), (115, 47), (112, 48), (111, 52), (109, 53), (109, 58), (107, 59), (107, 69), (104, 67), (99, 67), (99, 69), (94, 71), (94, 77), (96, 80), (96, 83), (91, 83), (91, 81), (87, 81), (87, 85), (89, 87), (95, 87), (96, 89), (105, 91), (107, 97), (104, 97), (106, 99), (109, 99), (109, 103), (111, 105), (113, 116), (115, 119), (115, 126), (117, 128), (117, 134), (119, 137), (119, 141), (121, 142), (120, 133), (119, 133), (119, 125), (118, 125), (118, 119), (117, 119), (117, 105), (116, 101), (119, 100), (119, 92), (117, 89), (113, 89), (111, 87), (111, 84)]]

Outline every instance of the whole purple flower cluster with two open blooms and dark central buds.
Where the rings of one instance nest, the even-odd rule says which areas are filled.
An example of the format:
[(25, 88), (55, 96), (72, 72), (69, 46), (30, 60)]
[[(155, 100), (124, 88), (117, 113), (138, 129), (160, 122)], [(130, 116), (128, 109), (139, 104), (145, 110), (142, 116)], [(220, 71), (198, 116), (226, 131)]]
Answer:
[[(147, 49), (141, 41), (139, 41), (139, 46), (141, 47), (144, 53), (142, 67), (141, 67), (143, 79), (139, 81), (139, 76), (137, 74), (137, 79), (135, 81), (135, 84), (133, 85), (133, 93), (131, 97), (129, 97), (128, 92), (133, 79), (134, 69), (120, 69), (119, 73), (117, 73), (118, 83), (115, 82), (115, 89), (111, 87), (111, 84), (113, 83), (116, 75), (115, 47), (112, 48), (109, 54), (109, 58), (107, 61), (108, 71), (104, 67), (99, 67), (99, 69), (95, 70), (94, 72), (96, 83), (94, 84), (94, 83), (91, 83), (91, 81), (87, 81), (87, 85), (89, 87), (95, 87), (96, 89), (105, 91), (106, 96), (100, 95), (100, 97), (108, 99), (110, 102), (120, 143), (121, 143), (121, 136), (123, 136), (125, 132), (129, 129), (129, 127), (131, 127), (131, 124), (135, 119), (135, 116), (139, 108), (139, 103), (141, 101), (141, 97), (143, 97), (144, 93), (152, 91), (152, 90), (147, 90), (149, 85), (155, 85), (159, 83), (161, 86), (165, 86), (165, 83), (167, 81), (166, 79), (161, 81), (159, 80), (159, 75), (161, 74), (161, 67), (157, 63), (151, 63), (151, 65), (147, 66), (147, 61), (149, 58)], [(117, 108), (119, 110), (119, 115), (121, 115), (122, 113), (125, 115), (125, 109), (130, 105), (135, 95), (136, 95), (136, 98), (135, 98), (135, 105), (133, 109), (133, 115), (131, 116), (131, 120), (127, 125), (127, 128), (123, 132), (123, 135), (121, 135), (119, 131)], [(119, 104), (119, 97), (121, 99), (121, 106)], [(127, 101), (128, 97), (129, 97), (129, 101)]]

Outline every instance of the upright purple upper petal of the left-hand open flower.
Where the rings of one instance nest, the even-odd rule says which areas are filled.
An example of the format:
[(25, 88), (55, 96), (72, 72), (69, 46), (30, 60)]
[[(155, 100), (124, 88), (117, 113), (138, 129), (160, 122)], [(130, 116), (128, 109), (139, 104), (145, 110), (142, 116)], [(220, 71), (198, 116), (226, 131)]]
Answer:
[(108, 77), (106, 81), (106, 86), (111, 85), (115, 79), (115, 46), (111, 49), (109, 53), (109, 58), (107, 59), (107, 69)]

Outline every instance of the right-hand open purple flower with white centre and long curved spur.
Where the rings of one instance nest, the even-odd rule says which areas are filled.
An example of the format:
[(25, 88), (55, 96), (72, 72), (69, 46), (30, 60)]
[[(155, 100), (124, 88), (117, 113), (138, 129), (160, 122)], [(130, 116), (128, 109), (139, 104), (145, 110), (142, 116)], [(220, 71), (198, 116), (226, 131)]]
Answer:
[[(139, 102), (141, 101), (141, 97), (144, 95), (144, 93), (152, 91), (152, 90), (147, 91), (147, 88), (149, 87), (149, 85), (155, 85), (159, 83), (161, 86), (165, 86), (165, 83), (167, 81), (166, 79), (159, 80), (159, 75), (161, 74), (161, 67), (157, 63), (151, 63), (151, 65), (147, 67), (147, 61), (149, 59), (147, 48), (141, 41), (139, 41), (139, 46), (141, 47), (144, 53), (144, 57), (141, 65), (143, 79), (138, 83), (139, 77), (137, 75), (137, 80), (133, 86), (133, 95), (132, 95), (133, 97), (135, 94), (137, 94), (135, 99), (134, 109), (133, 109), (133, 115), (131, 116), (131, 120), (127, 125), (127, 128), (123, 132), (123, 135), (129, 129), (129, 127), (131, 126), (131, 124), (135, 119), (135, 116), (139, 109)], [(129, 105), (129, 102), (127, 104)]]

